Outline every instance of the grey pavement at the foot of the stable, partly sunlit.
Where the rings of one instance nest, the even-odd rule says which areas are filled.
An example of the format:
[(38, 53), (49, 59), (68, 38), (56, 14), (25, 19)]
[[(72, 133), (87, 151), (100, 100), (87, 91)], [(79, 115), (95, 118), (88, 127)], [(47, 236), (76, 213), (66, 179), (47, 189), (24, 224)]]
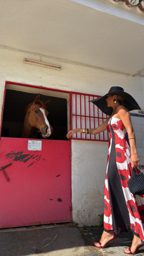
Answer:
[[(115, 245), (97, 249), (102, 227), (78, 228), (74, 223), (0, 229), (0, 256), (120, 256), (131, 245), (132, 233), (122, 233)], [(144, 247), (138, 251), (144, 255)]]

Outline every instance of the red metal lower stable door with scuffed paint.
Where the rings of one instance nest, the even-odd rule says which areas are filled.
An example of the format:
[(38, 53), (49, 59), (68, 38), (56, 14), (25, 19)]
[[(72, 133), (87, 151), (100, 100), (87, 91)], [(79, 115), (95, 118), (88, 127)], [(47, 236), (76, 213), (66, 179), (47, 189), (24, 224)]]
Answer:
[(28, 139), (1, 138), (0, 167), (12, 165), (9, 182), (0, 170), (0, 228), (71, 221), (70, 141), (41, 143), (35, 151)]

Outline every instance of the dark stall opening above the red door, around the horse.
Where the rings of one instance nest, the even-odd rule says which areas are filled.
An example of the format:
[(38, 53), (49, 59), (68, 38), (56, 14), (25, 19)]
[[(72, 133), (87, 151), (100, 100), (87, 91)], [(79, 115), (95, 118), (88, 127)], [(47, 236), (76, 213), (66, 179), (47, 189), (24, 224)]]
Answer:
[(6, 89), (5, 94), (1, 137), (21, 137), (25, 108), (37, 95), (41, 101), (51, 100), (47, 106), (47, 119), (53, 130), (48, 140), (67, 140), (67, 99), (10, 89)]

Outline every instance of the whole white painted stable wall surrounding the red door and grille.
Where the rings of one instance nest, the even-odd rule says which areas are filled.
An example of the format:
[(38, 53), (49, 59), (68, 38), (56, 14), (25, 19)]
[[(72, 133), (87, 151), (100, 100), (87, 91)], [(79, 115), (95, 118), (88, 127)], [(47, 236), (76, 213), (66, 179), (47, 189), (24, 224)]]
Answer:
[[(43, 58), (42, 61), (61, 65), (62, 70), (23, 63), (23, 58), (38, 57), (24, 52), (0, 50), (0, 108), (2, 110), (5, 81), (46, 88), (62, 89), (94, 95), (104, 95), (111, 86), (124, 90), (144, 108), (144, 80), (81, 65), (72, 65)], [(134, 111), (138, 113), (138, 111)], [(144, 118), (132, 117), (138, 140), (138, 154), (144, 164)], [(107, 165), (107, 142), (72, 141), (72, 197), (73, 221), (79, 226), (97, 225), (98, 214), (103, 213), (103, 187)]]

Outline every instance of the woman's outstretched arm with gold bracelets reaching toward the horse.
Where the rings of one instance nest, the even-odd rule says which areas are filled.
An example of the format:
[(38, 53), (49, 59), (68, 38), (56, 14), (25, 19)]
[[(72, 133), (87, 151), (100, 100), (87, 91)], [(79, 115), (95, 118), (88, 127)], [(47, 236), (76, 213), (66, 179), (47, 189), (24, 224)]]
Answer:
[[(108, 124), (109, 118), (110, 118), (110, 116), (107, 118), (107, 120), (104, 123), (102, 123), (97, 128), (95, 128), (95, 129), (91, 129), (91, 128), (88, 129), (89, 130), (88, 134), (97, 134), (97, 133), (101, 133), (101, 131), (107, 130), (107, 124)], [(70, 138), (74, 133), (78, 133), (78, 132), (82, 133), (82, 131), (83, 131), (83, 129), (71, 130), (71, 131), (69, 131), (69, 133), (67, 133), (66, 137)], [(87, 130), (85, 130), (85, 133), (87, 134)]]

